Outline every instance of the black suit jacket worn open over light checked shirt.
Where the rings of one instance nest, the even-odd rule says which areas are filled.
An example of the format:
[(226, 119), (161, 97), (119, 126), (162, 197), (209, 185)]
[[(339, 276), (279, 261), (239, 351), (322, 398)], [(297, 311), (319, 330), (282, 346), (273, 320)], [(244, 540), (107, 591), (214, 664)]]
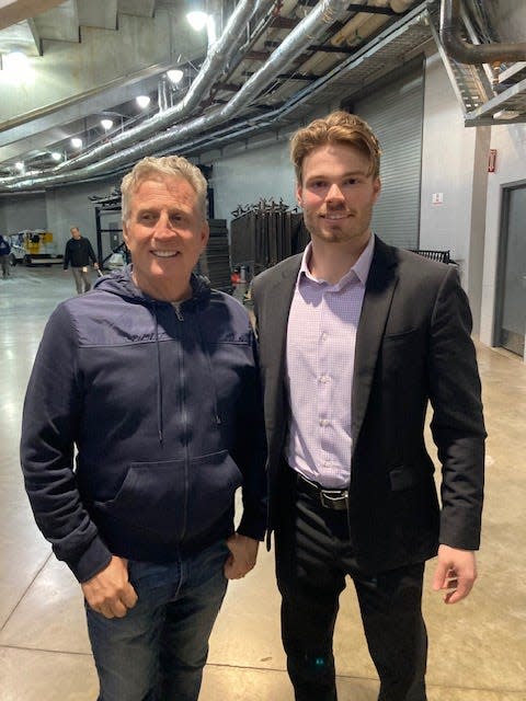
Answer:
[[(301, 256), (253, 283), (265, 390), (270, 527), (290, 520), (283, 451), (288, 312)], [(422, 562), (438, 542), (476, 550), (480, 541), (485, 430), (470, 338), (471, 314), (458, 274), (375, 241), (359, 319), (352, 394), (348, 517), (365, 571)], [(427, 404), (442, 463), (442, 506), (424, 445)], [(289, 472), (289, 470), (288, 470)]]

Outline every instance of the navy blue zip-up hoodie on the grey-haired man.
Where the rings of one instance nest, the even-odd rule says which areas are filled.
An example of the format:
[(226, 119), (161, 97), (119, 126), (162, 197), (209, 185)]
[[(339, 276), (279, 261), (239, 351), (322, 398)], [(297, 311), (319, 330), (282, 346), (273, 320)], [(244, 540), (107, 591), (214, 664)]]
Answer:
[[(62, 302), (24, 403), (21, 461), (36, 522), (80, 582), (112, 554), (169, 562), (265, 528), (265, 438), (247, 311), (193, 276), (180, 304), (132, 267)], [(73, 449), (77, 449), (73, 469)]]

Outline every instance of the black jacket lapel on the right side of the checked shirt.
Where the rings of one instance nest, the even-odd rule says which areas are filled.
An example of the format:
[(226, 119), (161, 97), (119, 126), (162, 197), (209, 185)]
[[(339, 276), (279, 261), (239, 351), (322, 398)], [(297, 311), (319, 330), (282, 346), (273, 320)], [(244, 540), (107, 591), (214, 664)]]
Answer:
[(397, 280), (395, 249), (375, 237), (375, 252), (356, 333), (351, 428), (353, 450), (356, 447), (369, 401), (378, 352)]

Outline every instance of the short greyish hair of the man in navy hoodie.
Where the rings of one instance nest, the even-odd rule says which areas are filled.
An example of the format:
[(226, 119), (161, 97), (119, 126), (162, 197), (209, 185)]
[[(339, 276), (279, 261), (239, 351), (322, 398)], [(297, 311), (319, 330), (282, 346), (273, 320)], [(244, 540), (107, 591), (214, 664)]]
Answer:
[(127, 221), (132, 205), (132, 197), (139, 185), (149, 179), (165, 180), (167, 177), (182, 177), (197, 195), (197, 209), (206, 219), (206, 179), (196, 165), (182, 156), (148, 156), (135, 164), (134, 169), (123, 177), (121, 193), (123, 195), (123, 221)]

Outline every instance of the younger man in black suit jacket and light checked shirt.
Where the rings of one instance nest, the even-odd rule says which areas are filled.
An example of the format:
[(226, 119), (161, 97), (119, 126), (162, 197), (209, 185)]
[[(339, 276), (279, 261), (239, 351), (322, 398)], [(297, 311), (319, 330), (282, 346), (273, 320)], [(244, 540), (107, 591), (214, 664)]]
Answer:
[(252, 292), (288, 673), (297, 701), (336, 699), (350, 575), (379, 701), (425, 701), (425, 561), (438, 554), (433, 588), (446, 604), (477, 576), (485, 430), (468, 300), (454, 267), (373, 234), (380, 149), (365, 122), (313, 120), (291, 159), (311, 242)]

